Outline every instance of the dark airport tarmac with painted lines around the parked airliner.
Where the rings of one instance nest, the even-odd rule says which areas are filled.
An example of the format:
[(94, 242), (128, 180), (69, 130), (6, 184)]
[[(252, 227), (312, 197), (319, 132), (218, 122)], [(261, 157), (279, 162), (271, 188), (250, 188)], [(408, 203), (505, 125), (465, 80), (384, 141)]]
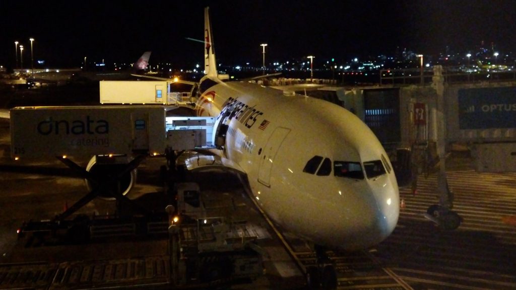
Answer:
[[(170, 288), (166, 238), (30, 247), (18, 240), (22, 222), (53, 218), (87, 191), (58, 160), (14, 167), (8, 133), (8, 121), (0, 120), (0, 289)], [(454, 210), (463, 218), (457, 230), (442, 230), (424, 218), (428, 206), (438, 202), (437, 176), (421, 174), (416, 194), (400, 189), (404, 206), (390, 237), (368, 251), (330, 252), (337, 288), (515, 289), (516, 173), (478, 173), (472, 163), (467, 152), (453, 152), (446, 160)], [(166, 203), (157, 170), (163, 164), (163, 158), (144, 161), (132, 199), (150, 207)], [(214, 212), (247, 220), (267, 252), (266, 275), (229, 288), (305, 287), (304, 267), (315, 263), (310, 247), (270, 224), (236, 176), (211, 171), (189, 178), (199, 182)], [(95, 199), (80, 213), (112, 215), (115, 205)]]

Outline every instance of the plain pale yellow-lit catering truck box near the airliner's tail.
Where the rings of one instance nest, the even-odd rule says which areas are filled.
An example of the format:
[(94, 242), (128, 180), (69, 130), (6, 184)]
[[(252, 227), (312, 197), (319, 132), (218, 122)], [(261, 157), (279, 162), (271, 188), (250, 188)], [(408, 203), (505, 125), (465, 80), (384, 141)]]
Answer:
[(101, 80), (99, 83), (101, 104), (169, 105), (171, 102), (170, 83), (166, 80)]

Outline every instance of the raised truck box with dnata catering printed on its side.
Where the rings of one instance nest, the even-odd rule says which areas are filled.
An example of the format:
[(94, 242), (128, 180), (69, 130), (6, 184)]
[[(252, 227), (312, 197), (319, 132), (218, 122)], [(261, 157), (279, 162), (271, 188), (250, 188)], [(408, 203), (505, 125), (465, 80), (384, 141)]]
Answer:
[(165, 152), (163, 106), (16, 107), (13, 158)]

